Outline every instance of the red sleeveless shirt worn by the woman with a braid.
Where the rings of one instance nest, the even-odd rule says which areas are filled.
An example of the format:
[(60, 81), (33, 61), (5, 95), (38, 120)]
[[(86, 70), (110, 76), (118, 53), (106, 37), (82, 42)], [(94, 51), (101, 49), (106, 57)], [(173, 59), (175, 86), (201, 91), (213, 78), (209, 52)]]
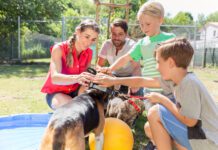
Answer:
[[(80, 74), (84, 72), (88, 65), (91, 63), (92, 60), (92, 50), (90, 48), (83, 50), (79, 57), (76, 56), (76, 49), (72, 51), (73, 55), (73, 64), (68, 67), (66, 63), (66, 57), (69, 51), (67, 42), (62, 42), (60, 45), (62, 50), (62, 70), (61, 73), (63, 74)], [(52, 48), (51, 48), (52, 52)], [(78, 88), (79, 84), (72, 84), (72, 85), (56, 85), (51, 82), (51, 70), (49, 70), (46, 81), (41, 89), (43, 93), (71, 93)]]

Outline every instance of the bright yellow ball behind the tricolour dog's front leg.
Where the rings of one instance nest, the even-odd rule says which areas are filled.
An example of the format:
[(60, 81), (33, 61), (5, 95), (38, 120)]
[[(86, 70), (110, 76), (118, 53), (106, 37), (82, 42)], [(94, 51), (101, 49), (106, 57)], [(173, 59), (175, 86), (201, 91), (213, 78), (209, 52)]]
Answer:
[[(103, 150), (132, 150), (133, 134), (130, 127), (120, 119), (106, 118)], [(90, 150), (95, 150), (95, 134), (89, 134)]]

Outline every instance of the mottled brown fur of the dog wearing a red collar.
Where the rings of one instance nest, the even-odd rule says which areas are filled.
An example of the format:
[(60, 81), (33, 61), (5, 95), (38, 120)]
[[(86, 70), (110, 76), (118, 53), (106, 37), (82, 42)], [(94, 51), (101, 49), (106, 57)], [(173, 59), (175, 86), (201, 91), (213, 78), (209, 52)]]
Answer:
[[(129, 99), (132, 100), (140, 108), (140, 112), (136, 111), (134, 106), (128, 102)], [(126, 122), (130, 127), (132, 127), (137, 116), (144, 110), (145, 106), (142, 100), (137, 98), (130, 98), (124, 94), (119, 94), (118, 96), (109, 100), (106, 117), (119, 118)]]

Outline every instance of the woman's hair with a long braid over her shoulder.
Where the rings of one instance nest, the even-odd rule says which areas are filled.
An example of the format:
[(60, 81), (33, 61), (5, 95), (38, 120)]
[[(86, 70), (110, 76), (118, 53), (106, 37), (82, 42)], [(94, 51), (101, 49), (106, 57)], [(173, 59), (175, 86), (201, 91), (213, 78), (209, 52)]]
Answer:
[[(92, 29), (93, 31), (100, 33), (100, 28), (98, 24), (94, 20), (86, 19), (82, 21), (77, 27), (76, 30), (80, 32), (84, 32), (86, 29)], [(67, 66), (71, 66), (73, 64), (73, 56), (72, 51), (74, 49), (76, 42), (76, 34), (74, 33), (73, 36), (69, 38), (69, 52), (67, 54)]]

